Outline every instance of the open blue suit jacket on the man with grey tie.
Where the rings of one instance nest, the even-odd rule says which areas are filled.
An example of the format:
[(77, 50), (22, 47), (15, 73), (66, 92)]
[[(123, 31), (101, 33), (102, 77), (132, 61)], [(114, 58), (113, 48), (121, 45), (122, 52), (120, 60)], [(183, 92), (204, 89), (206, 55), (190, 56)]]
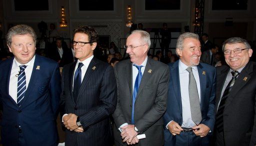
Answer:
[[(164, 121), (164, 145), (174, 145), (175, 136), (173, 136), (168, 129), (165, 128), (166, 124), (173, 120), (179, 125), (182, 124), (182, 105), (179, 84), (178, 61), (169, 63), (170, 68), (170, 82), (168, 89), (167, 109), (163, 115)], [(207, 125), (211, 131), (215, 122), (214, 104), (215, 104), (215, 87), (216, 87), (216, 71), (215, 67), (199, 63), (197, 70), (200, 79), (200, 107), (202, 114), (201, 123)], [(210, 134), (210, 133), (208, 133)], [(208, 140), (207, 137), (204, 137)], [(202, 138), (203, 139), (203, 138)], [(209, 141), (205, 141), (206, 143)], [(203, 141), (202, 141), (203, 143)]]

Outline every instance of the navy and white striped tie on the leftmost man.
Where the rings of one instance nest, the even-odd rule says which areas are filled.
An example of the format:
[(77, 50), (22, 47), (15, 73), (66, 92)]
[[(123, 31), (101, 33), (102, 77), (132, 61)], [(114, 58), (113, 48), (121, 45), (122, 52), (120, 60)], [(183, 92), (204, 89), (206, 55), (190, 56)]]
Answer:
[(18, 82), (17, 82), (17, 105), (20, 107), (21, 100), (25, 96), (26, 92), (26, 75), (25, 75), (25, 68), (26, 65), (19, 66), (19, 75), (18, 75)]

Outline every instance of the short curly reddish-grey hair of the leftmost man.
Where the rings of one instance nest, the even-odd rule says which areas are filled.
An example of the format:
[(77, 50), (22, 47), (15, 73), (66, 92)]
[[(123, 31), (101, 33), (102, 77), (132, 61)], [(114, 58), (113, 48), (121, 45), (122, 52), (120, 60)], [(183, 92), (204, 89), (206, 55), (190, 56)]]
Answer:
[(33, 41), (34, 41), (34, 45), (35, 45), (35, 43), (36, 43), (36, 34), (35, 34), (32, 27), (30, 27), (28, 25), (25, 25), (25, 24), (15, 25), (15, 26), (11, 27), (8, 30), (8, 32), (6, 34), (7, 45), (10, 46), (12, 36), (14, 36), (14, 35), (25, 35), (25, 34), (29, 34), (33, 37)]

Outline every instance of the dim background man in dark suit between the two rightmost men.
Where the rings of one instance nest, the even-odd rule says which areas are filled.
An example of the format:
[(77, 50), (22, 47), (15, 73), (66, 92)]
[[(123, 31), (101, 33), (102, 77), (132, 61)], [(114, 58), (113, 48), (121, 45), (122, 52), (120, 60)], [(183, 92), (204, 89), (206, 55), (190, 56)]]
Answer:
[(217, 59), (215, 58), (215, 54), (217, 52), (218, 52), (218, 46), (215, 44), (212, 44), (210, 46), (210, 49), (202, 52), (200, 61), (214, 66), (217, 62)]

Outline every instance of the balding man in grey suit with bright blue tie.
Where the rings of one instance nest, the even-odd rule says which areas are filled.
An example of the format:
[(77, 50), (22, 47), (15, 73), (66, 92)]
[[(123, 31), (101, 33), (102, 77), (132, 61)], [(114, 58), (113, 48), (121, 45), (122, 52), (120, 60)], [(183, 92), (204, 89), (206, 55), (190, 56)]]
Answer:
[[(150, 35), (146, 31), (132, 31), (124, 47), (130, 59), (114, 67), (117, 82), (117, 105), (112, 115), (115, 145), (163, 145), (162, 115), (166, 109), (168, 66), (147, 57)], [(137, 134), (145, 138), (139, 139)]]

